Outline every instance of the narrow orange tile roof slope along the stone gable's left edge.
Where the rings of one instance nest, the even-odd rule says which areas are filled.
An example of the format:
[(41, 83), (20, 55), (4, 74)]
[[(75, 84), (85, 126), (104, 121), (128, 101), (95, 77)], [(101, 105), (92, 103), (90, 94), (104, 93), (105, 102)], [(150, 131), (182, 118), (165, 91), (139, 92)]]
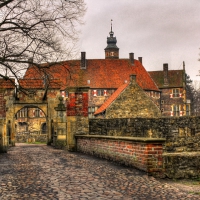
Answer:
[(117, 99), (117, 97), (125, 90), (125, 88), (128, 86), (129, 84), (123, 84), (121, 85), (108, 99), (107, 101), (105, 101), (103, 103), (103, 105), (96, 110), (96, 112), (94, 113), (94, 115), (98, 115), (100, 113), (102, 113), (103, 111), (105, 111), (109, 106), (110, 104), (115, 100)]

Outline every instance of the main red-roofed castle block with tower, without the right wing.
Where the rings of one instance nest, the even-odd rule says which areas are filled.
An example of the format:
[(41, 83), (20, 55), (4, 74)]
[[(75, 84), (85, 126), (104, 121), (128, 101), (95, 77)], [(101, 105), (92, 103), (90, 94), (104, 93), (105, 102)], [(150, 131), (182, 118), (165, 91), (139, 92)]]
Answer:
[[(82, 99), (84, 103), (81, 113), (89, 118), (94, 117), (95, 111), (119, 88), (129, 82), (129, 76), (137, 76), (137, 84), (146, 92), (151, 100), (160, 108), (160, 90), (142, 65), (142, 59), (135, 59), (134, 53), (129, 53), (129, 58), (119, 58), (119, 48), (114, 32), (111, 31), (107, 37), (105, 48), (105, 59), (87, 59), (86, 52), (81, 52), (80, 60), (68, 60), (50, 65), (44, 68), (44, 73), (38, 73), (35, 66), (30, 66), (24, 76), (24, 80), (42, 81), (45, 76), (51, 82), (57, 81), (61, 95), (68, 101), (67, 115), (80, 115), (79, 92), (74, 94), (71, 88), (89, 88), (88, 93)], [(48, 65), (48, 64), (46, 64)], [(45, 66), (45, 64), (44, 64)], [(43, 82), (46, 82), (43, 80)], [(45, 87), (45, 86), (44, 86)], [(72, 101), (73, 99), (73, 101)], [(70, 102), (73, 103), (70, 103)], [(77, 107), (79, 106), (79, 108)], [(88, 107), (88, 109), (87, 109)], [(79, 114), (72, 112), (78, 110)]]

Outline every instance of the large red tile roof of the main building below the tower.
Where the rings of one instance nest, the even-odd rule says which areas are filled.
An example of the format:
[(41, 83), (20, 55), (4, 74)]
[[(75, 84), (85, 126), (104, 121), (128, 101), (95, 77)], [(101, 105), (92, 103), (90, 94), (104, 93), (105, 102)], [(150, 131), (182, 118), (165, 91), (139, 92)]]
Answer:
[[(45, 65), (42, 65), (45, 67)], [(142, 64), (135, 60), (131, 65), (129, 59), (88, 59), (86, 69), (80, 68), (80, 60), (57, 63), (42, 68), (29, 67), (24, 78), (41, 79), (44, 74), (62, 81), (62, 89), (66, 87), (118, 88), (129, 80), (130, 74), (137, 75), (137, 83), (144, 90), (158, 91), (158, 87)]]

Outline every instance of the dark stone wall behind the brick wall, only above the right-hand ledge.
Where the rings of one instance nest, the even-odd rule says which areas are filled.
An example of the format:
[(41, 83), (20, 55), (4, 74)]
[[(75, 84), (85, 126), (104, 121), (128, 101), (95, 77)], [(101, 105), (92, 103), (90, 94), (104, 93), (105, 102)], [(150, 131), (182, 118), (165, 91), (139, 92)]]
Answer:
[(91, 135), (166, 138), (165, 152), (200, 151), (200, 117), (90, 119)]

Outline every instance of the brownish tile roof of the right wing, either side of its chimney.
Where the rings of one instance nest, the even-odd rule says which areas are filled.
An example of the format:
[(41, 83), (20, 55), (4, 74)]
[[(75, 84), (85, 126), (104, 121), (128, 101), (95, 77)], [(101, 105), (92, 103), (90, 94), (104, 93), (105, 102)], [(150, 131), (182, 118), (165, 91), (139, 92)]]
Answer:
[(183, 87), (184, 70), (168, 70), (168, 86), (164, 86), (164, 72), (150, 71), (151, 78), (155, 81), (158, 88)]

